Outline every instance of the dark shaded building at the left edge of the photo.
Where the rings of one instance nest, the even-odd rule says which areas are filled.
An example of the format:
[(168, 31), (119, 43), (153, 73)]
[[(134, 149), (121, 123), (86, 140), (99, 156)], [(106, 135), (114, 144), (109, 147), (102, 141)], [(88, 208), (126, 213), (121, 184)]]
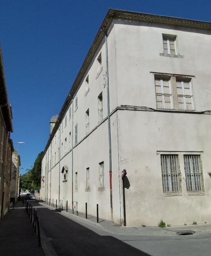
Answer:
[(14, 151), (13, 143), (10, 139), (10, 132), (12, 131), (12, 108), (8, 101), (0, 49), (0, 218), (9, 209), (12, 151)]

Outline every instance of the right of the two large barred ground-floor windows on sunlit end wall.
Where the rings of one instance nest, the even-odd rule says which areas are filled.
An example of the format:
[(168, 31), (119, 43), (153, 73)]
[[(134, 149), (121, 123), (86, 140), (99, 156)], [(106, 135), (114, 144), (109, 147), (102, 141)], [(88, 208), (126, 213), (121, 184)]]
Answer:
[(187, 191), (204, 192), (200, 155), (184, 155)]

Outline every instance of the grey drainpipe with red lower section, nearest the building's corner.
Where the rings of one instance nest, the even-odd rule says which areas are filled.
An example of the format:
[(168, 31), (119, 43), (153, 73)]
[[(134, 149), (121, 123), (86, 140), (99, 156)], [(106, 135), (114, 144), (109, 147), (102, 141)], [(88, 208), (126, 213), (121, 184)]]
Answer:
[(111, 221), (113, 221), (111, 125), (110, 125), (110, 97), (109, 97), (109, 77), (108, 77), (108, 43), (107, 43), (107, 34), (102, 29), (101, 29), (101, 31), (105, 35), (105, 48), (106, 48), (106, 81), (107, 81), (107, 112), (108, 112), (108, 143), (109, 143), (110, 210), (111, 210)]

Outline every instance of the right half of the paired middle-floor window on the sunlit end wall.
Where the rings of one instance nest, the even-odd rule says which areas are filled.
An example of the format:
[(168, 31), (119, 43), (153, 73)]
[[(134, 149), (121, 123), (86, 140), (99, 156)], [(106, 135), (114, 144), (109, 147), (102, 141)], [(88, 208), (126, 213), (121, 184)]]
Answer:
[(179, 110), (193, 110), (193, 93), (190, 79), (176, 79)]

